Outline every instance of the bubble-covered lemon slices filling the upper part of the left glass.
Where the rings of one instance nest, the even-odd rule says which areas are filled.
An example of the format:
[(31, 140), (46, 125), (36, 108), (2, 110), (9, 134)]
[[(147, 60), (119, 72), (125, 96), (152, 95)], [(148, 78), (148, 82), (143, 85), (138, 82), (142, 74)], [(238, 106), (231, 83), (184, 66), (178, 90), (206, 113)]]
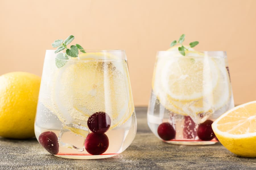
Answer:
[(127, 63), (115, 59), (86, 53), (80, 61), (70, 60), (56, 72), (51, 100), (61, 120), (86, 126), (91, 114), (103, 111), (110, 115), (110, 128), (114, 128), (131, 117), (134, 106)]

